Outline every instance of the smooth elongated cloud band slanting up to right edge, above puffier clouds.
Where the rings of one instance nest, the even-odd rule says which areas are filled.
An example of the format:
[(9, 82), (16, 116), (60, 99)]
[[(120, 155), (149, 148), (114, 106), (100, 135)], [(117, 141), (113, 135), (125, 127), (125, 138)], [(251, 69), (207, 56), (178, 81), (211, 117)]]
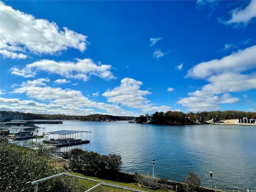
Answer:
[(186, 77), (207, 78), (213, 74), (224, 72), (242, 72), (254, 68), (256, 65), (256, 46), (234, 52), (220, 60), (215, 59), (208, 62), (202, 62), (190, 70)]

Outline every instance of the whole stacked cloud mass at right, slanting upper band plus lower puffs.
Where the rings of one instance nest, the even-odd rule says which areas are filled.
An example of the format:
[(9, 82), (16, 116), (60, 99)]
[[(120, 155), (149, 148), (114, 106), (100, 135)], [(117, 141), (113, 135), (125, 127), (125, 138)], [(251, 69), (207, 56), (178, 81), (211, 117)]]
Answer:
[(220, 60), (194, 66), (188, 70), (186, 77), (204, 79), (209, 84), (202, 86), (201, 90), (188, 93), (190, 97), (182, 98), (177, 103), (196, 112), (220, 110), (222, 104), (240, 102), (239, 98), (232, 97), (230, 93), (256, 89), (256, 73), (250, 72), (256, 67), (255, 52), (256, 46), (252, 46)]

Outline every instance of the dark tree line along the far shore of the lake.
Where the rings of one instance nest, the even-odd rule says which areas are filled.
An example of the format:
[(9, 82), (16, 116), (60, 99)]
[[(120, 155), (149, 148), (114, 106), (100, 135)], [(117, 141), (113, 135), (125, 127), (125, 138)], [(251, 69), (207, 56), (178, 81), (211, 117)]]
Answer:
[[(6, 111), (0, 111), (6, 112)], [(239, 110), (226, 110), (226, 111), (212, 111), (212, 112), (188, 112), (184, 113), (181, 111), (167, 111), (167, 112), (155, 112), (154, 114), (145, 114), (139, 117), (134, 116), (112, 116), (106, 114), (91, 114), (87, 116), (75, 116), (75, 115), (64, 115), (64, 114), (35, 114), (35, 113), (24, 113), (24, 120), (34, 119), (50, 119), (50, 120), (81, 120), (81, 121), (106, 121), (106, 120), (133, 120), (136, 119), (138, 122), (146, 122), (151, 120), (154, 122), (170, 121), (170, 122), (188, 122), (188, 120), (211, 120), (213, 118), (223, 119), (234, 119), (242, 118), (247, 116), (248, 118), (256, 119), (256, 112), (244, 112)]]

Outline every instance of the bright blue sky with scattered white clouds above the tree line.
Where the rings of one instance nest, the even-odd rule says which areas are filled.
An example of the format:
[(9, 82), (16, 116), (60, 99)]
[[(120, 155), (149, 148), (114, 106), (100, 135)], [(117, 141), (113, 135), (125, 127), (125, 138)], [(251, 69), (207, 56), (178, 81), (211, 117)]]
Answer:
[(1, 1), (0, 109), (256, 111), (256, 0)]

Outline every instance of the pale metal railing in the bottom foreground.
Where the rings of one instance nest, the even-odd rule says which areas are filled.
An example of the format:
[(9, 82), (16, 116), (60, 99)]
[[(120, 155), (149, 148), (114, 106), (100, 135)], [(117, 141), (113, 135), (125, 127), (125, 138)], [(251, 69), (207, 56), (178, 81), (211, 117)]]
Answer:
[(59, 173), (59, 174), (56, 174), (56, 175), (52, 175), (52, 176), (49, 176), (49, 177), (46, 177), (46, 178), (42, 178), (42, 179), (39, 179), (39, 180), (36, 180), (36, 181), (32, 181), (32, 182), (26, 182), (25, 186), (28, 187), (28, 186), (35, 186), (34, 188), (34, 192), (38, 192), (38, 184), (40, 182), (43, 182), (43, 181), (46, 181), (46, 180), (49, 180), (49, 179), (53, 179), (55, 177), (59, 177), (59, 176), (62, 176), (62, 175), (66, 175), (66, 176), (70, 176), (70, 177), (75, 177), (75, 178), (79, 178), (79, 179), (84, 179), (84, 180), (88, 180), (88, 181), (93, 181), (93, 182), (98, 182), (99, 184), (97, 184), (96, 186), (93, 186), (92, 188), (86, 190), (86, 192), (90, 192), (100, 186), (107, 186), (107, 187), (112, 187), (112, 188), (118, 188), (118, 189), (123, 189), (124, 192), (127, 190), (127, 191), (133, 191), (133, 192), (145, 192), (145, 191), (141, 191), (141, 190), (136, 190), (136, 189), (133, 189), (133, 188), (128, 188), (128, 187), (125, 187), (125, 186), (121, 186), (121, 185), (116, 185), (116, 184), (111, 184), (111, 183), (108, 183), (108, 182), (104, 182), (104, 181), (99, 181), (99, 180), (95, 180), (95, 179), (90, 179), (90, 178), (86, 178), (86, 177), (81, 177), (81, 176), (78, 176), (78, 175), (72, 175), (72, 174), (69, 174), (69, 173)]

